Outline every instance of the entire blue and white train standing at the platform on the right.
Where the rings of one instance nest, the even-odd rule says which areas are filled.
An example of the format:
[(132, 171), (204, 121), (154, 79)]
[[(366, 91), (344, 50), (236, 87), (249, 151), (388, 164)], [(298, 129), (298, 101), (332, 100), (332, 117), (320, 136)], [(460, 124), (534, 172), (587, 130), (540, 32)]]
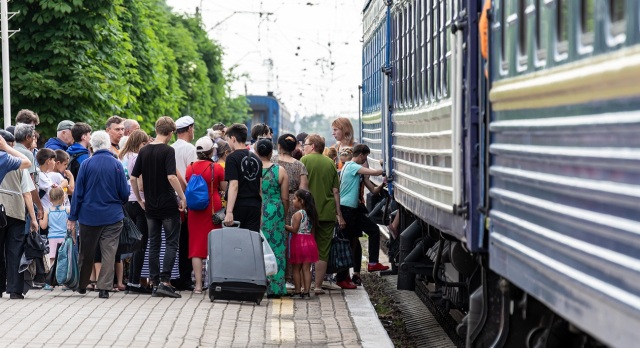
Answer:
[(637, 346), (640, 2), (487, 5), (364, 6), (398, 288), (462, 312), (468, 347)]

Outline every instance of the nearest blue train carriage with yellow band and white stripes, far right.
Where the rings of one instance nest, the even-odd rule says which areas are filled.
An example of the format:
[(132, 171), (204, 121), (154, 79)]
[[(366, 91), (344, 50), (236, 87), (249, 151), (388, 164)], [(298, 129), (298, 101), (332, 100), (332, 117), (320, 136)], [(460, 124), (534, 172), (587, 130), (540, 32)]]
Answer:
[(638, 2), (493, 8), (491, 269), (602, 342), (635, 346)]

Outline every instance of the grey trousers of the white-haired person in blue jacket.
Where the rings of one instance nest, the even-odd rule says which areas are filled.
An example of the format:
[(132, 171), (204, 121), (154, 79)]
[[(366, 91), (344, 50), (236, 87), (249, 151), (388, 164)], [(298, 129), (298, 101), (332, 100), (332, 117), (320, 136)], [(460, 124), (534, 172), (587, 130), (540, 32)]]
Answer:
[(102, 267), (98, 275), (98, 289), (113, 290), (116, 252), (122, 232), (122, 220), (111, 225), (88, 226), (80, 224), (82, 245), (80, 248), (80, 289), (86, 289), (93, 270), (96, 249), (102, 253)]

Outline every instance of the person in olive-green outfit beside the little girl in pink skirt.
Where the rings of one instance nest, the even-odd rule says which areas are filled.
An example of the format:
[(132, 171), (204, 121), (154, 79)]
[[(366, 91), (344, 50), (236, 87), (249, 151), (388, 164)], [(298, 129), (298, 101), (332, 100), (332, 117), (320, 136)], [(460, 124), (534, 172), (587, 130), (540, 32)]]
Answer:
[(345, 228), (346, 222), (340, 210), (340, 181), (335, 163), (322, 154), (324, 138), (318, 134), (309, 135), (303, 144), (305, 156), (300, 159), (309, 172), (309, 191), (313, 194), (318, 209), (318, 228), (315, 233), (320, 260), (316, 262), (316, 295), (324, 294), (322, 286), (335, 289), (333, 284), (325, 283), (329, 249), (333, 238), (336, 217), (340, 228)]

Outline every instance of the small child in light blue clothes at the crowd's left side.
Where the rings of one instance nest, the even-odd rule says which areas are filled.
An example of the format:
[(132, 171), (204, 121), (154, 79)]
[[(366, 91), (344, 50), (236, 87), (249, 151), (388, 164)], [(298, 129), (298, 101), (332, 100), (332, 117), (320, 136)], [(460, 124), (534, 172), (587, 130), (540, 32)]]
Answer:
[[(49, 239), (49, 261), (53, 264), (56, 258), (56, 249), (58, 244), (64, 242), (67, 236), (67, 217), (69, 216), (69, 207), (63, 206), (66, 194), (62, 187), (54, 187), (49, 191), (49, 200), (51, 208), (45, 209), (40, 220), (40, 228), (49, 229), (47, 238)], [(53, 290), (49, 284), (45, 284), (44, 290)]]

